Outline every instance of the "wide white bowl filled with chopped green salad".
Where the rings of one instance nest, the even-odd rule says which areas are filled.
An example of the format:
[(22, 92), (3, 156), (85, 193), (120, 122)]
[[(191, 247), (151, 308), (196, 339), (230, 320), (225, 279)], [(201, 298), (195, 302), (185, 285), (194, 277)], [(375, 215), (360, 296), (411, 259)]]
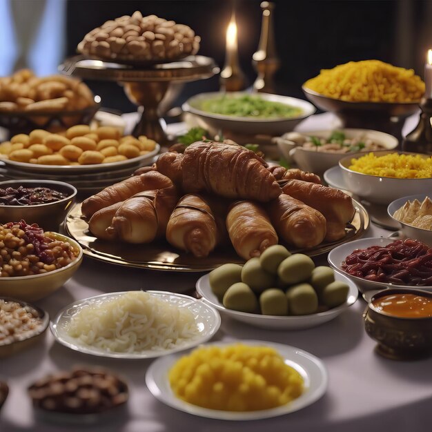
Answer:
[(267, 93), (208, 92), (191, 97), (183, 110), (197, 118), (199, 126), (245, 135), (280, 135), (312, 115), (307, 101)]

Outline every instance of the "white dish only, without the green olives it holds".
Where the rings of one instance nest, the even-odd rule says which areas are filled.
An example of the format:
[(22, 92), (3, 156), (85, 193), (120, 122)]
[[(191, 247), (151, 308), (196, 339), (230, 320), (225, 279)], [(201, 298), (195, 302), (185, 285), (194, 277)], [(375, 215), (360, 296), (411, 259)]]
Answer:
[(227, 309), (219, 300), (210, 288), (208, 274), (200, 277), (197, 281), (197, 293), (202, 296), (204, 302), (217, 308), (222, 313), (233, 318), (233, 320), (245, 322), (251, 326), (260, 328), (275, 328), (279, 330), (300, 330), (302, 328), (311, 328), (324, 324), (333, 320), (333, 318), (344, 312), (349, 306), (352, 306), (358, 297), (357, 286), (348, 279), (348, 277), (335, 272), (335, 279), (345, 282), (349, 286), (348, 297), (344, 304), (331, 308), (326, 312), (313, 313), (311, 315), (297, 316), (276, 316), (276, 315), (261, 315), (258, 313), (246, 313)]

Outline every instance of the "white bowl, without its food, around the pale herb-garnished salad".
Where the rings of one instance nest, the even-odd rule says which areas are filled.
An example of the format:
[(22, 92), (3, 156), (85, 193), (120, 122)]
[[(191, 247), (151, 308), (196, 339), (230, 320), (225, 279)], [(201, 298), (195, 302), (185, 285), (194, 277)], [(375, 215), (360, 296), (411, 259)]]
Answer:
[[(371, 139), (377, 144), (381, 144), (386, 150), (392, 150), (397, 147), (398, 141), (393, 135), (377, 130), (370, 129), (340, 129), (344, 132), (347, 139), (361, 137), (362, 139)], [(302, 132), (300, 135), (305, 137), (318, 137), (328, 138), (333, 130), (317, 130), (313, 132)], [(302, 146), (297, 145), (295, 142), (284, 139), (284, 136), (276, 138), (277, 147), (286, 160), (293, 159), (297, 166), (305, 171), (322, 175), (325, 170), (337, 165), (340, 159), (348, 156), (349, 153), (328, 153), (308, 150)], [(355, 154), (355, 153), (351, 153)]]

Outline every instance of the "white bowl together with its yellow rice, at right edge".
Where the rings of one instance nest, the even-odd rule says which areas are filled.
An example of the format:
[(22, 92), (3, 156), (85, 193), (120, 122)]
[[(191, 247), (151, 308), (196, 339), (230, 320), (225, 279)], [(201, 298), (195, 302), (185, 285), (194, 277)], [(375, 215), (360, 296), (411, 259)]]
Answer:
[(357, 153), (339, 161), (346, 188), (376, 204), (432, 190), (432, 158), (418, 153)]

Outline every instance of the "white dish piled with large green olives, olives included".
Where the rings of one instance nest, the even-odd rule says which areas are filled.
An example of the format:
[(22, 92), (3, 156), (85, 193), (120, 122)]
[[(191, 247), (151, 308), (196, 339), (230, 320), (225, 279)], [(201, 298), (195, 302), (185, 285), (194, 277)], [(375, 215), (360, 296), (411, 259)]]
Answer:
[(234, 320), (280, 330), (333, 320), (358, 297), (351, 279), (282, 245), (271, 246), (244, 266), (219, 266), (202, 276), (196, 288), (204, 302)]

